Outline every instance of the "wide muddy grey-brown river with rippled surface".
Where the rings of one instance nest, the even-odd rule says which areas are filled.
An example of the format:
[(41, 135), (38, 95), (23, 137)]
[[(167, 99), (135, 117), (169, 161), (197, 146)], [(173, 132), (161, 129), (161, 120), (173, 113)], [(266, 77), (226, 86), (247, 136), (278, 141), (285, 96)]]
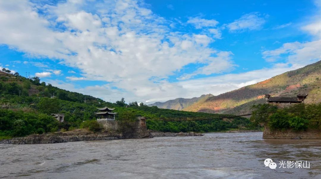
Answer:
[[(0, 178), (321, 178), (320, 151), (321, 140), (262, 132), (0, 145)], [(310, 168), (279, 168), (298, 160)]]

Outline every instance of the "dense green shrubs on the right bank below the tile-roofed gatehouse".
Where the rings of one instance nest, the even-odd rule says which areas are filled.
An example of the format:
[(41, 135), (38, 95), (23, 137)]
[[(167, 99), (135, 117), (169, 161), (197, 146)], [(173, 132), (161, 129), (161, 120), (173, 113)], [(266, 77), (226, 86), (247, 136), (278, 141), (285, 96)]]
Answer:
[(321, 103), (294, 104), (283, 109), (270, 104), (258, 104), (252, 109), (250, 120), (253, 125), (267, 125), (272, 130), (321, 130)]

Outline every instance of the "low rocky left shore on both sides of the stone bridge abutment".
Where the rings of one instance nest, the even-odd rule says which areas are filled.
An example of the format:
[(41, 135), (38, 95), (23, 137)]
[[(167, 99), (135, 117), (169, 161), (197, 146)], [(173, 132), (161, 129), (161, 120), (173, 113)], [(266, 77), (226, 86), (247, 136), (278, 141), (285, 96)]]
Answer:
[[(149, 135), (144, 138), (153, 137), (184, 137), (184, 136), (203, 136), (201, 133), (194, 132), (158, 132), (149, 131)], [(52, 144), (63, 142), (76, 142), (83, 140), (117, 140), (126, 139), (123, 135), (111, 132), (91, 132), (89, 130), (74, 130), (66, 132), (54, 132), (47, 134), (32, 134), (26, 137), (18, 137), (13, 139), (4, 139), (0, 141), (0, 144)]]

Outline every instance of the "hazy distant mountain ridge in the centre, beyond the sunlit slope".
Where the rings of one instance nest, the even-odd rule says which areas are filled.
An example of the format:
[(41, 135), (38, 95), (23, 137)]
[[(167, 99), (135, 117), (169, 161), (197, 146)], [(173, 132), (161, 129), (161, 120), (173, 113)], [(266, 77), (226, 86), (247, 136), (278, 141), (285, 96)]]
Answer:
[(203, 94), (200, 97), (194, 97), (194, 98), (176, 98), (166, 102), (156, 102), (156, 103), (148, 104), (148, 106), (157, 106), (158, 108), (162, 108), (162, 109), (182, 110), (194, 103), (197, 103), (201, 100), (206, 100), (207, 98), (212, 96), (213, 94)]

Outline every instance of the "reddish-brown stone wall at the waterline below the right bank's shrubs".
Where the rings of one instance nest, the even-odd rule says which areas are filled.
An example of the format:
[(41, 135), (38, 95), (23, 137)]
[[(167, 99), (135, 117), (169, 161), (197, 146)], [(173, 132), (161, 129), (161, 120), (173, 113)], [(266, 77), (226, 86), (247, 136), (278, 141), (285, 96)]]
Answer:
[(306, 131), (271, 130), (264, 127), (263, 139), (321, 139), (321, 130), (308, 129)]

